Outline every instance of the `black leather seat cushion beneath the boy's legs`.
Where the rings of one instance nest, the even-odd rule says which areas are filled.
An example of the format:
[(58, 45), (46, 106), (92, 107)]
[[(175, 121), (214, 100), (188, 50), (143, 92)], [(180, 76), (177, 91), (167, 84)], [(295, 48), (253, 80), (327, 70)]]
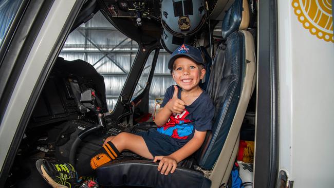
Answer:
[(148, 160), (115, 160), (97, 168), (103, 186), (140, 185), (149, 187), (210, 187), (201, 171), (177, 167), (173, 174), (160, 174), (159, 163)]

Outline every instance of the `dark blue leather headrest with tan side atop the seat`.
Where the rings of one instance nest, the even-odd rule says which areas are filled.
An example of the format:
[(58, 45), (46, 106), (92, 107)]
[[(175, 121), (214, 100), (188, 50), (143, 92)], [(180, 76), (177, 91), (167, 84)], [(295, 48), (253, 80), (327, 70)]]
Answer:
[(249, 6), (247, 0), (235, 0), (224, 16), (221, 25), (223, 39), (234, 31), (245, 30), (249, 25)]

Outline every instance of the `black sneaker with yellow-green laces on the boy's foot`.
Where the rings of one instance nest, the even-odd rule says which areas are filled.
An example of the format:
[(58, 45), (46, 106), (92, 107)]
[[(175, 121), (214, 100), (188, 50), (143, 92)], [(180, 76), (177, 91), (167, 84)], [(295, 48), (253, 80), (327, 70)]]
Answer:
[(80, 186), (77, 172), (69, 163), (58, 164), (56, 162), (39, 159), (36, 161), (36, 167), (39, 173), (52, 187), (73, 188)]

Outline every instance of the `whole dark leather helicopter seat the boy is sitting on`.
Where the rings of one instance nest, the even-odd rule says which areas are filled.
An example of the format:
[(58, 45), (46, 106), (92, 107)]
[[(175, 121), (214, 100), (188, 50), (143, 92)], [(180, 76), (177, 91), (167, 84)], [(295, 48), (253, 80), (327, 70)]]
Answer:
[[(243, 1), (236, 0), (223, 24), (241, 23), (243, 9)], [(237, 31), (238, 28), (228, 28), (226, 46), (219, 46), (211, 68), (207, 92), (214, 101), (215, 116), (212, 131), (193, 155), (196, 164), (179, 166), (165, 176), (157, 171), (158, 163), (123, 158), (96, 170), (100, 185), (219, 187), (227, 182), (237, 154), (239, 129), (255, 85), (254, 41), (249, 32)]]

